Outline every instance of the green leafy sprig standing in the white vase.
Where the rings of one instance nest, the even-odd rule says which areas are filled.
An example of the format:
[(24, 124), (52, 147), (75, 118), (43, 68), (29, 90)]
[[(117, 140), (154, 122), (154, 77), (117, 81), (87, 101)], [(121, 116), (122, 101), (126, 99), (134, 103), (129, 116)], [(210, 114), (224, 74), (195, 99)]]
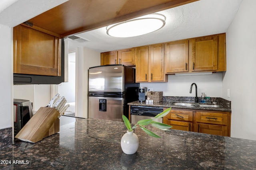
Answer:
[(155, 133), (153, 133), (152, 131), (146, 129), (146, 127), (144, 127), (144, 126), (151, 124), (152, 126), (157, 127), (158, 129), (161, 129), (161, 130), (164, 130), (164, 131), (168, 131), (170, 128), (172, 128), (172, 126), (166, 125), (164, 123), (159, 123), (159, 122), (153, 121), (153, 119), (161, 118), (161, 117), (166, 116), (170, 112), (170, 110), (171, 110), (171, 107), (166, 109), (166, 110), (164, 110), (162, 113), (159, 113), (158, 115), (156, 115), (152, 119), (140, 120), (133, 127), (131, 127), (130, 121), (127, 119), (127, 117), (125, 115), (123, 115), (124, 124), (126, 125), (128, 131), (130, 131), (130, 132), (133, 129), (135, 129), (137, 127), (137, 125), (138, 125), (148, 135), (150, 135), (152, 137), (160, 138), (160, 136), (158, 136)]

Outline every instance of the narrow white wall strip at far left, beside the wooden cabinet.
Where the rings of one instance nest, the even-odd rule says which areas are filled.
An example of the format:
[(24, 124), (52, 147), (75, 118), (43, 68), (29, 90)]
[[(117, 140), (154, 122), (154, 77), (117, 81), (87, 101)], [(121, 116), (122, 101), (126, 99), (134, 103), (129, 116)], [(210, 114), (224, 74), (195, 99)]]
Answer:
[(0, 129), (12, 127), (13, 124), (13, 52), (12, 52), (12, 28), (0, 24)]

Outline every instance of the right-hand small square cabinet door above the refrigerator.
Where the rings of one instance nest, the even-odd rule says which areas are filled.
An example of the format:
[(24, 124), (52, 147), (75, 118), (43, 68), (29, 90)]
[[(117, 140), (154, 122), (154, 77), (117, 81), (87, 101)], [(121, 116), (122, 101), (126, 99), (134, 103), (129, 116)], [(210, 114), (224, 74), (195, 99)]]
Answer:
[(118, 51), (118, 64), (126, 66), (135, 65), (134, 48)]

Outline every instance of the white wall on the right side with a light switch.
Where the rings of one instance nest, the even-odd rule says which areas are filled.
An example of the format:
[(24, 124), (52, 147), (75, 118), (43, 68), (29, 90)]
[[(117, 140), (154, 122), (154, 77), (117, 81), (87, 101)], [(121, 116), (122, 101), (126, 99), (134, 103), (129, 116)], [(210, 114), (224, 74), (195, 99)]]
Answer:
[[(232, 103), (231, 137), (256, 140), (256, 1), (244, 0), (226, 32), (222, 96)], [(227, 98), (230, 89), (230, 98)]]

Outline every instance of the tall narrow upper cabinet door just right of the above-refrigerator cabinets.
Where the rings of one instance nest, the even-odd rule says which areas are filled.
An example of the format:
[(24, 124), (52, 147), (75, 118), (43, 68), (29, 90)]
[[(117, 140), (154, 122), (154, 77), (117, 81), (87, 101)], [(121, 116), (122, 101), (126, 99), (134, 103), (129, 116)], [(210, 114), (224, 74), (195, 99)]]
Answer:
[(148, 46), (135, 48), (136, 82), (148, 82)]

